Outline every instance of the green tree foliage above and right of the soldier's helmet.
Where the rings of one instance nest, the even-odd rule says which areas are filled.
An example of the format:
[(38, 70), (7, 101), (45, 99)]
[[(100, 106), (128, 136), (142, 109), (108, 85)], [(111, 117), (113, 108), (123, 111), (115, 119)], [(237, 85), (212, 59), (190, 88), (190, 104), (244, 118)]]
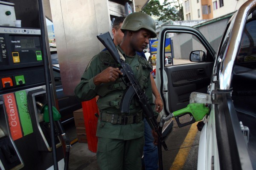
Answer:
[(150, 0), (142, 12), (157, 16), (163, 22), (184, 20), (182, 0), (164, 0), (163, 5), (158, 0)]

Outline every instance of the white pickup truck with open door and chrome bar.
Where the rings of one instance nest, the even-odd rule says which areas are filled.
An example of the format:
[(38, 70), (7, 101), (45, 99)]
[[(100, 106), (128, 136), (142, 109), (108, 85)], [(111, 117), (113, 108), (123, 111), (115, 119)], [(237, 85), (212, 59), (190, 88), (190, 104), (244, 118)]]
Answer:
[[(175, 57), (192, 63), (165, 65), (169, 33)], [(158, 43), (155, 81), (165, 103), (163, 115), (186, 108), (192, 92), (210, 96), (198, 170), (256, 169), (256, 0), (233, 14), (217, 52), (198, 29), (186, 26), (163, 26)]]

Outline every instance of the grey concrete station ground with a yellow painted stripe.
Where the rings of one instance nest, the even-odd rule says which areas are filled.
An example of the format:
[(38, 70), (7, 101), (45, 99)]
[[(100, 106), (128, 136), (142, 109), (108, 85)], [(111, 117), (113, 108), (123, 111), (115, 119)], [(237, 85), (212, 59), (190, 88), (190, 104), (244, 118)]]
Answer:
[[(200, 132), (195, 128), (196, 124), (197, 123), (192, 125), (193, 128), (191, 128), (191, 125), (179, 128), (176, 121), (174, 121), (172, 130), (165, 138), (168, 150), (166, 151), (162, 148), (163, 170), (197, 169)], [(65, 129), (67, 129), (67, 134), (71, 136), (71, 140), (76, 139), (76, 127), (72, 123), (66, 125)], [(96, 153), (88, 150), (87, 143), (76, 142), (72, 144), (70, 149), (69, 170), (99, 170)]]

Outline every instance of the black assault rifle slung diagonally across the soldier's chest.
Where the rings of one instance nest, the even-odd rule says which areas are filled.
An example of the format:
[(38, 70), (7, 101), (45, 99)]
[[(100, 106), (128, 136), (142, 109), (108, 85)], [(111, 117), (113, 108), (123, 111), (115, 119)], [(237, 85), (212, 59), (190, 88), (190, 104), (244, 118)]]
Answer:
[(157, 119), (154, 117), (154, 111), (148, 102), (148, 96), (145, 94), (145, 91), (142, 88), (140, 88), (140, 85), (137, 82), (137, 79), (135, 78), (133, 71), (131, 70), (131, 66), (128, 63), (125, 63), (125, 59), (122, 59), (122, 54), (120, 55), (118, 50), (116, 49), (116, 46), (109, 32), (97, 35), (97, 38), (108, 49), (113, 59), (120, 65), (120, 71), (122, 72), (122, 79), (125, 82), (125, 84), (128, 86), (121, 100), (120, 112), (129, 113), (131, 99), (136, 94), (140, 101), (141, 107), (143, 109), (143, 113), (147, 116), (147, 118), (150, 120), (150, 122), (154, 126), (154, 130), (157, 132), (159, 141), (163, 145), (163, 148), (165, 150), (168, 150), (166, 143), (163, 140), (162, 134), (158, 131), (159, 125), (157, 123)]

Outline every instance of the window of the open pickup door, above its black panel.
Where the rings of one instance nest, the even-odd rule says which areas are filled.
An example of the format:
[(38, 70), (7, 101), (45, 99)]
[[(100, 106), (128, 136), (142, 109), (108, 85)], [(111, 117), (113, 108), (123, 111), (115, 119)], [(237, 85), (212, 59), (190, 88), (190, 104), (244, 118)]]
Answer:
[(192, 34), (169, 32), (166, 34), (165, 38), (167, 40), (170, 39), (171, 42), (169, 48), (165, 45), (165, 58), (167, 57), (167, 59), (172, 59), (172, 62), (167, 62), (166, 59), (165, 66), (195, 63), (189, 60), (189, 56), (192, 51), (202, 50), (207, 54), (207, 50), (204, 48), (204, 45), (202, 45), (198, 38)]

